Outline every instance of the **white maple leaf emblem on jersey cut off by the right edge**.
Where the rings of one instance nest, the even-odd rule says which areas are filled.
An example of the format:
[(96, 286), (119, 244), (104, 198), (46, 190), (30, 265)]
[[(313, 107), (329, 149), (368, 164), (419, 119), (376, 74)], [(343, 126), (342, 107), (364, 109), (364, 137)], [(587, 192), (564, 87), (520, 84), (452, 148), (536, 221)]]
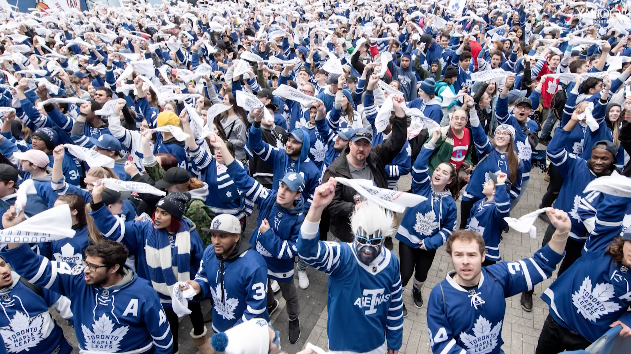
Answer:
[(592, 289), (591, 279), (585, 277), (581, 288), (572, 294), (572, 304), (578, 309), (579, 314), (596, 322), (601, 316), (618, 311), (622, 307), (614, 302), (608, 301), (615, 296), (615, 290), (610, 283), (597, 283)]

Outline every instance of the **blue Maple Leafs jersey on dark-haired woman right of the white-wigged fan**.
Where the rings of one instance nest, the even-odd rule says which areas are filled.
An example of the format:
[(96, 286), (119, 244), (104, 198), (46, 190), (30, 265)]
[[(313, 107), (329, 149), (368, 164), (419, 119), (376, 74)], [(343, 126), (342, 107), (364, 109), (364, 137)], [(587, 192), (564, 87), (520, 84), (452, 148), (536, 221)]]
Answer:
[(423, 241), (425, 249), (437, 249), (456, 228), (456, 201), (451, 192), (437, 192), (432, 186), (427, 164), (434, 147), (431, 140), (425, 143), (412, 168), (412, 190), (427, 200), (405, 210), (396, 232), (396, 239), (411, 248), (419, 248)]

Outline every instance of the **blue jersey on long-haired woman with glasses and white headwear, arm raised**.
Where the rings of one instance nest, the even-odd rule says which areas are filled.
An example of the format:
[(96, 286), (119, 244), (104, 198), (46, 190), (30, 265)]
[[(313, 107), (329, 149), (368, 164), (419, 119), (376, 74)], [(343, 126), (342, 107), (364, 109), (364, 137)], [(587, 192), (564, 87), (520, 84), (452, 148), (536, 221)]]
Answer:
[[(469, 183), (464, 190), (463, 200), (475, 202), (485, 198), (482, 193), (482, 186), (488, 181), (488, 173), (504, 172), (508, 176), (509, 160), (505, 152), (495, 149), (492, 142), (488, 140), (484, 128), (480, 125), (480, 118), (476, 111), (469, 110), (469, 122), (471, 122), (471, 133), (473, 134), (473, 144), (478, 151), (478, 166), (473, 170), (469, 177)], [(520, 161), (517, 171), (517, 180), (512, 183), (510, 188), (510, 199), (514, 199), (521, 193), (521, 179), (524, 164)]]

